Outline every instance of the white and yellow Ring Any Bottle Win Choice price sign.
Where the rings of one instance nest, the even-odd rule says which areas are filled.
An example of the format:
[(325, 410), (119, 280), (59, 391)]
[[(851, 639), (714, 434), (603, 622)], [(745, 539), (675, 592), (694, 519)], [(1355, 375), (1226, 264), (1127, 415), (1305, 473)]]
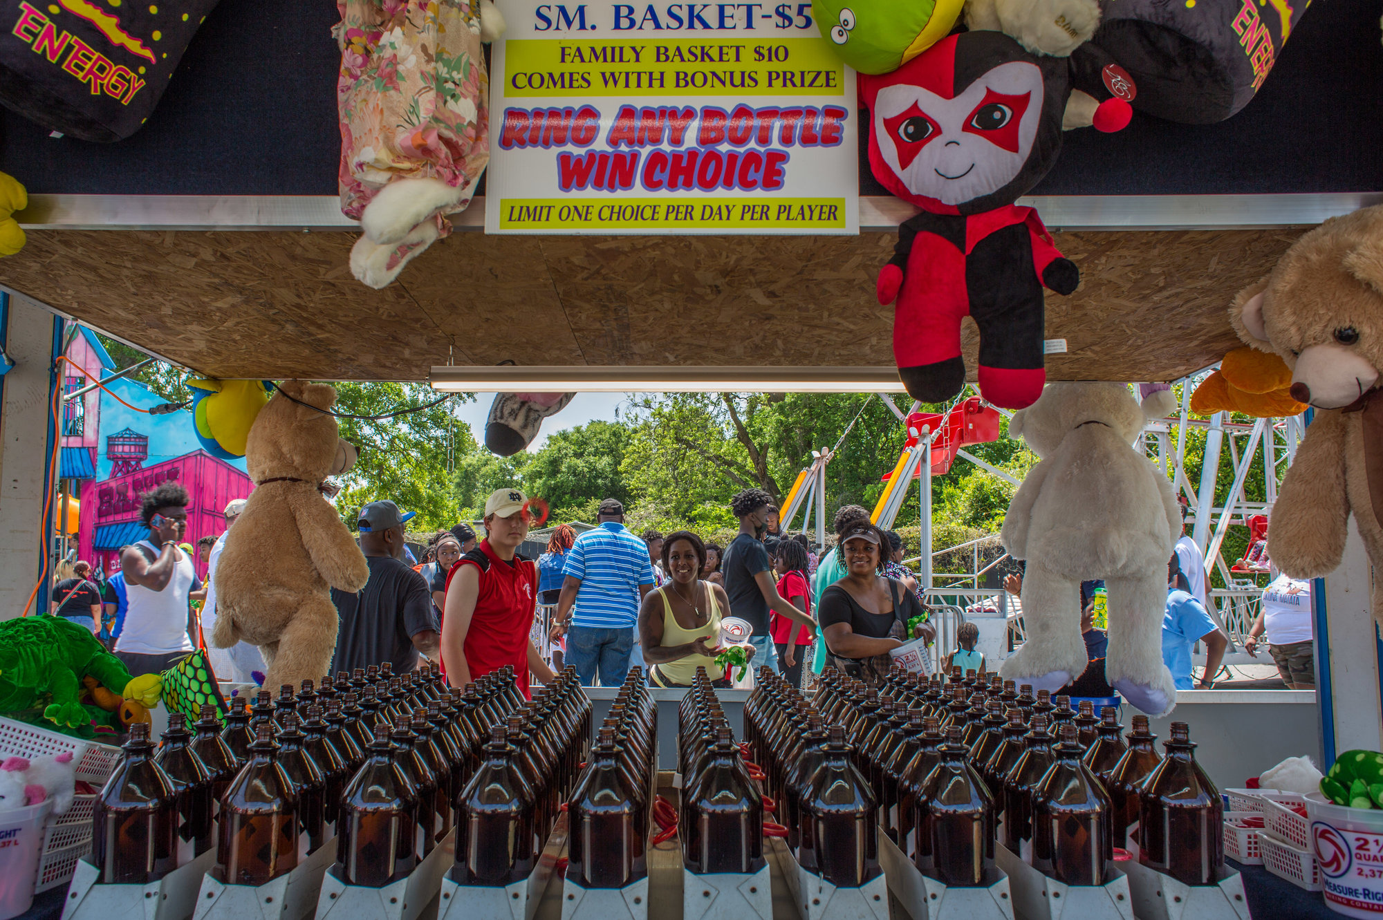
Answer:
[(855, 72), (810, 3), (498, 7), (485, 232), (859, 232)]

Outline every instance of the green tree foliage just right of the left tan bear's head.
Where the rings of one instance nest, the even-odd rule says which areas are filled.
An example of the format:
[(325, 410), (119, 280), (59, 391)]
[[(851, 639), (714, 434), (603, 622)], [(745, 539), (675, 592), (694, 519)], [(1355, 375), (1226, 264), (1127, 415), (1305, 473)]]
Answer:
[(400, 508), (416, 511), (414, 530), (449, 528), (459, 518), (461, 496), (454, 470), (461, 460), (480, 453), (470, 427), (452, 413), (462, 394), (437, 405), (437, 391), (423, 384), (337, 383), (336, 408), (353, 416), (386, 416), (400, 409), (427, 406), (386, 419), (340, 419), (340, 435), (360, 448), (360, 460), (346, 477), (336, 500), (343, 517), (362, 504), (390, 499)]

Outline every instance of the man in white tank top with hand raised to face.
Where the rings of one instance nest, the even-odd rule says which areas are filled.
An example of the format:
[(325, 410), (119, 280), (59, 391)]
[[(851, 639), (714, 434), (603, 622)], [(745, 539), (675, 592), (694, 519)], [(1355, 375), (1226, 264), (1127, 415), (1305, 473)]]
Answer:
[(145, 492), (140, 515), (149, 535), (120, 554), (127, 608), (115, 656), (134, 675), (167, 670), (192, 651), (187, 601), (202, 584), (192, 557), (177, 546), (187, 532), (188, 501), (177, 482)]

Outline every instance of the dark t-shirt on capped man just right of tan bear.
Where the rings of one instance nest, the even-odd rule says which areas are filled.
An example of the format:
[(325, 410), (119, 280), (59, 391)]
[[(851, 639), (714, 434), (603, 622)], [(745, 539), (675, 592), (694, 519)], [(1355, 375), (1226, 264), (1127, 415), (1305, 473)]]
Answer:
[(336, 658), (332, 671), (350, 671), (380, 662), (394, 673), (418, 666), (412, 637), (438, 631), (431, 611), (427, 582), (400, 559), (368, 555), (369, 580), (358, 594), (332, 588), (332, 604), (340, 616)]

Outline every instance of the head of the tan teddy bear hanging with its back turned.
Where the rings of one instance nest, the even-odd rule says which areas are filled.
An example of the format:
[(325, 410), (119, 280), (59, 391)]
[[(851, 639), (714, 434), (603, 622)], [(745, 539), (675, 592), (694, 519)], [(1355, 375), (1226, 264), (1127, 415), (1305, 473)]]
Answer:
[(355, 464), (355, 448), (342, 441), (336, 419), (326, 410), (336, 388), (301, 380), (278, 384), (250, 425), (245, 463), (254, 482), (293, 478), (321, 482)]

